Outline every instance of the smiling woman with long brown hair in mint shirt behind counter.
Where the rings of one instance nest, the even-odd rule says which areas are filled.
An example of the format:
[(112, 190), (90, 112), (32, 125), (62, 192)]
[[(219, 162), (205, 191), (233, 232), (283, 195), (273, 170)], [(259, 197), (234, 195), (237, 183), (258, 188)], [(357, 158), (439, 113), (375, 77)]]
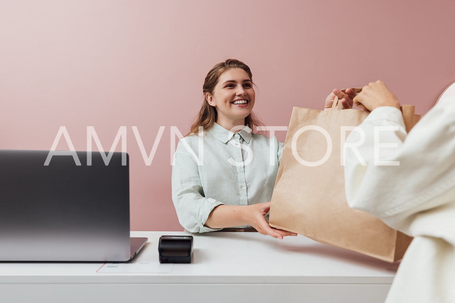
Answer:
[[(172, 201), (180, 224), (193, 233), (233, 227), (275, 238), (297, 235), (268, 225), (284, 144), (256, 132), (263, 124), (252, 112), (250, 68), (235, 59), (218, 63), (202, 92), (196, 122), (174, 154)], [(352, 104), (342, 94), (337, 95), (342, 103)], [(334, 97), (329, 95), (326, 107)]]

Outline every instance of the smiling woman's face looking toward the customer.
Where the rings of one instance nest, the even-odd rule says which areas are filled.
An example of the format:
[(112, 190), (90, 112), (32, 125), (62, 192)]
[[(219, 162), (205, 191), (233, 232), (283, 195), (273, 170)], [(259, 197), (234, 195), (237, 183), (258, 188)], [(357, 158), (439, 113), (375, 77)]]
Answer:
[(255, 97), (253, 82), (247, 72), (240, 68), (222, 73), (213, 94), (206, 94), (208, 103), (217, 109), (217, 123), (227, 129), (230, 129), (229, 125), (245, 124), (245, 117), (251, 113)]

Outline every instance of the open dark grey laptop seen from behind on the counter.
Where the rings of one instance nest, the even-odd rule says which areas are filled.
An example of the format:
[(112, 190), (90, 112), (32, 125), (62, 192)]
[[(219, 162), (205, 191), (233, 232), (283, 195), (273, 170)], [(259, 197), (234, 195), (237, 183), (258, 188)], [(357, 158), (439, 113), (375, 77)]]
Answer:
[(128, 155), (52, 153), (0, 150), (0, 261), (133, 258)]

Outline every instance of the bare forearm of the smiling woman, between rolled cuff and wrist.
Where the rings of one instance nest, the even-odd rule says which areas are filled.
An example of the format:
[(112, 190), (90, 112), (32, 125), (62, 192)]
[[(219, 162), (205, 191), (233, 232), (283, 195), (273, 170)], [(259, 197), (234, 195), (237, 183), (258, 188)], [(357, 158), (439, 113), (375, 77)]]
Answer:
[(208, 228), (249, 225), (246, 208), (247, 206), (240, 205), (218, 205), (212, 210), (204, 225)]

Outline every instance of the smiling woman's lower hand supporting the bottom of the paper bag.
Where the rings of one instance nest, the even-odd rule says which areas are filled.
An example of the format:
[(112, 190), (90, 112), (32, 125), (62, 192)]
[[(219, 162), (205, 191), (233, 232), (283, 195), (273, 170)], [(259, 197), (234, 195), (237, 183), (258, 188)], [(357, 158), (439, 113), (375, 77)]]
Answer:
[(264, 216), (270, 210), (270, 202), (248, 205), (246, 207), (248, 208), (247, 212), (245, 212), (248, 225), (256, 228), (259, 233), (264, 235), (268, 234), (273, 238), (278, 239), (282, 239), (285, 236), (297, 236), (297, 233), (273, 228), (268, 225), (268, 222)]

